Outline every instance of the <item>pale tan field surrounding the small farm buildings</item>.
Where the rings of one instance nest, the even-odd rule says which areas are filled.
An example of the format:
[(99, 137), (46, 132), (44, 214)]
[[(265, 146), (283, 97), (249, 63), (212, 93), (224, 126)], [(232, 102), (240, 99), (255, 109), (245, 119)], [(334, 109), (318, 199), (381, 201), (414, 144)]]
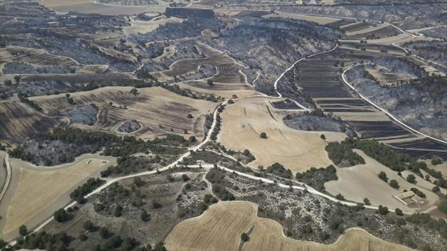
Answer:
[[(333, 195), (340, 193), (346, 200), (351, 201), (363, 201), (364, 198), (368, 198), (373, 205), (384, 205), (390, 208), (397, 207), (407, 212), (423, 211), (430, 206), (435, 205), (439, 200), (438, 196), (431, 192), (431, 188), (434, 185), (431, 184), (428, 187), (427, 184), (422, 182), (416, 185), (410, 184), (405, 180), (409, 172), (406, 173), (406, 171), (404, 171), (402, 172), (402, 176), (399, 176), (397, 175), (397, 172), (382, 165), (364, 154), (362, 151), (354, 151), (365, 159), (366, 164), (337, 168), (338, 180), (325, 183), (326, 191), (329, 193)], [(380, 180), (380, 178), (377, 177), (380, 171), (387, 173), (389, 180), (396, 180), (399, 183), (400, 188), (394, 189), (389, 184)], [(423, 179), (421, 178), (421, 180)], [(427, 196), (427, 203), (420, 207), (409, 207), (393, 197), (393, 195), (401, 193), (404, 189), (409, 191), (410, 188), (413, 187), (416, 187), (425, 193)]]

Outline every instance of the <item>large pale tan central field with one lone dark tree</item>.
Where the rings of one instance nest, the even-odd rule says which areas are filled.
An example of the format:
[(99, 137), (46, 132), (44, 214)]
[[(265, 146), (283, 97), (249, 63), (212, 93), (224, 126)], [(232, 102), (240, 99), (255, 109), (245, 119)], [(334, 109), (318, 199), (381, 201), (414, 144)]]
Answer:
[[(295, 130), (284, 125), (282, 118), (285, 115), (284, 111), (275, 109), (268, 98), (238, 100), (221, 114), (218, 141), (232, 150), (250, 150), (256, 157), (249, 163), (252, 168), (268, 167), (278, 162), (293, 172), (301, 172), (312, 166), (332, 164), (325, 151), (327, 142), (320, 138), (320, 134), (336, 140), (342, 140), (346, 135)], [(261, 132), (267, 134), (266, 139), (260, 137)]]

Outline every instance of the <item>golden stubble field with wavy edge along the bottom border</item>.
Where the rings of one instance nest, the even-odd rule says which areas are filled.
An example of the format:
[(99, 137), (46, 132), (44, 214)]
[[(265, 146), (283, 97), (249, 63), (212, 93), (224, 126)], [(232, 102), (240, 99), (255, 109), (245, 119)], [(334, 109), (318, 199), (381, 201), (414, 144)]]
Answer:
[[(381, 240), (361, 229), (348, 229), (333, 244), (288, 238), (281, 225), (259, 218), (258, 205), (246, 201), (220, 202), (201, 216), (178, 224), (166, 238), (168, 250), (411, 250)], [(240, 235), (248, 232), (249, 240)]]

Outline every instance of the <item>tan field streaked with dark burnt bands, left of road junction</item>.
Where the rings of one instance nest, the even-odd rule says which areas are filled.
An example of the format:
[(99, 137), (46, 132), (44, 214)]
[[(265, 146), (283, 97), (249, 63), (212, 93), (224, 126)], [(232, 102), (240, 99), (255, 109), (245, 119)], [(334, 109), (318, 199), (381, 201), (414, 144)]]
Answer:
[[(93, 126), (76, 125), (82, 129), (115, 132), (123, 121), (136, 120), (141, 129), (133, 135), (143, 139), (177, 133), (188, 137), (204, 135), (205, 116), (214, 111), (215, 103), (180, 96), (161, 87), (141, 88), (138, 94), (130, 93), (131, 87), (104, 87), (71, 95), (75, 107), (94, 103), (99, 107), (98, 122)], [(65, 94), (34, 97), (48, 114), (73, 110)], [(109, 104), (112, 102), (112, 105)], [(191, 114), (194, 118), (189, 119)], [(171, 131), (171, 128), (173, 131)], [(184, 130), (188, 134), (184, 134)]]

